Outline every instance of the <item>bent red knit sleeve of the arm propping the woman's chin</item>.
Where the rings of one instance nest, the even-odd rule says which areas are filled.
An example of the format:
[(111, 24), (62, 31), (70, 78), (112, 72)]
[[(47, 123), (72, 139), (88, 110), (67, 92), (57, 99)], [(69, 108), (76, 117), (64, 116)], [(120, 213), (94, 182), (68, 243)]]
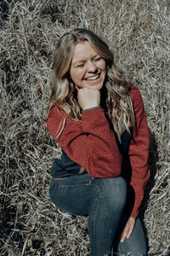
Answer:
[[(64, 119), (64, 129), (57, 138)], [(47, 127), (71, 160), (84, 167), (92, 177), (121, 174), (122, 156), (102, 108), (83, 112), (80, 122), (66, 118), (65, 112), (54, 106), (48, 114)]]

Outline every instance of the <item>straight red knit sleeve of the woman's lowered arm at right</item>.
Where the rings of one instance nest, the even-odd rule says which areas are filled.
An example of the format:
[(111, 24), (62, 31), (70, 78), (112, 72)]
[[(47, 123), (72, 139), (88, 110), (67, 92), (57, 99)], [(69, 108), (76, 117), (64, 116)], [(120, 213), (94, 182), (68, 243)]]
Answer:
[(133, 131), (133, 139), (129, 145), (129, 158), (132, 166), (131, 186), (134, 190), (134, 206), (132, 215), (138, 216), (139, 207), (144, 198), (144, 187), (150, 177), (148, 166), (149, 154), (149, 130), (144, 113), (142, 96), (133, 86), (131, 92), (133, 109), (136, 118), (136, 127)]

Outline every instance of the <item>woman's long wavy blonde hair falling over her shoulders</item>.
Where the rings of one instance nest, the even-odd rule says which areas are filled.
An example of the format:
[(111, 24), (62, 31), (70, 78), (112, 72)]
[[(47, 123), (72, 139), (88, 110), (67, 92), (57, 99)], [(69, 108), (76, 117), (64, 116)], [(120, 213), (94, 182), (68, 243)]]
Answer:
[(69, 71), (74, 47), (83, 41), (88, 41), (106, 62), (105, 113), (120, 139), (122, 132), (129, 131), (129, 126), (134, 126), (135, 123), (133, 104), (129, 96), (130, 85), (122, 79), (122, 73), (116, 69), (113, 54), (107, 44), (94, 32), (75, 29), (59, 39), (54, 52), (50, 106), (63, 108), (71, 119), (82, 119), (81, 108), (77, 102), (77, 90), (71, 81)]

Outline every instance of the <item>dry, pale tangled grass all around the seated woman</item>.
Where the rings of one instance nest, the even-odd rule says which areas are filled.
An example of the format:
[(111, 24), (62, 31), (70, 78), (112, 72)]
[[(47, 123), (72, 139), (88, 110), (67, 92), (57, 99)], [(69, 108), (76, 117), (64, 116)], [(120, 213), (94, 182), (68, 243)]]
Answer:
[(87, 27), (109, 42), (139, 85), (150, 126), (150, 183), (142, 207), (149, 255), (169, 253), (169, 14), (166, 0), (3, 0), (1, 3), (1, 255), (90, 255), (87, 218), (48, 197), (59, 147), (45, 126), (54, 44)]

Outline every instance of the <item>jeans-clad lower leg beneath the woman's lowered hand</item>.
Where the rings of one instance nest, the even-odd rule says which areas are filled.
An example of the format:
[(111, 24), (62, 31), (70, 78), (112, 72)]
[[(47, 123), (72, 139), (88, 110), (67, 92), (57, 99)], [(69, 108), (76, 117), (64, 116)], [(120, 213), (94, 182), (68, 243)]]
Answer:
[[(122, 232), (122, 229), (123, 229), (122, 224), (124, 222), (127, 222), (127, 216), (125, 214), (122, 215), (118, 232), (120, 232), (120, 230)], [(120, 241), (118, 243), (116, 255), (117, 256), (118, 255), (122, 255), (122, 256), (125, 256), (125, 255), (126, 256), (127, 255), (128, 256), (146, 256), (147, 255), (146, 236), (144, 234), (144, 229), (139, 218), (136, 219), (136, 223), (135, 223), (132, 235), (128, 239), (125, 239), (125, 241), (123, 242)]]

